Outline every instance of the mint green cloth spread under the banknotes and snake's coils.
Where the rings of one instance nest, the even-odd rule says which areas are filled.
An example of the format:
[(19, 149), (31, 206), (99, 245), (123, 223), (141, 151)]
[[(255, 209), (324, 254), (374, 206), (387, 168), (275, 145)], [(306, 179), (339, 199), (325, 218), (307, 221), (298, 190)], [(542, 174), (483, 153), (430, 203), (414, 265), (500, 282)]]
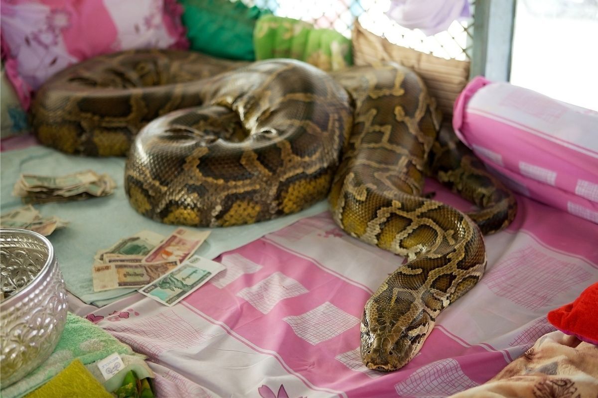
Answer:
[[(140, 215), (130, 205), (123, 189), (124, 158), (87, 158), (65, 155), (57, 150), (33, 146), (22, 150), (0, 153), (0, 212), (23, 205), (20, 198), (11, 195), (14, 183), (21, 173), (65, 175), (93, 169), (114, 178), (117, 187), (112, 195), (76, 202), (35, 205), (42, 216), (56, 215), (70, 224), (56, 230), (48, 239), (54, 246), (66, 289), (85, 303), (105, 306), (135, 289), (114, 289), (94, 292), (91, 281), (93, 256), (99, 249), (109, 248), (119, 239), (141, 230), (152, 230), (170, 235), (175, 226), (158, 223)], [(196, 254), (213, 259), (260, 237), (277, 231), (304, 217), (328, 209), (324, 200), (297, 214), (276, 218), (248, 226), (214, 228), (208, 240)]]

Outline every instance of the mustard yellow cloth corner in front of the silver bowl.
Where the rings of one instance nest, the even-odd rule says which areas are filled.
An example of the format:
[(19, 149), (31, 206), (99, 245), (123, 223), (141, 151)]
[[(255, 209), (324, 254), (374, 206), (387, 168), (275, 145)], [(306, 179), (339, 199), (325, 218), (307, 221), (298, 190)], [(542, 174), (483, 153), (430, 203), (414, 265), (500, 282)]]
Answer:
[(112, 398), (103, 385), (91, 375), (80, 360), (75, 359), (59, 374), (26, 398), (71, 398), (94, 397)]

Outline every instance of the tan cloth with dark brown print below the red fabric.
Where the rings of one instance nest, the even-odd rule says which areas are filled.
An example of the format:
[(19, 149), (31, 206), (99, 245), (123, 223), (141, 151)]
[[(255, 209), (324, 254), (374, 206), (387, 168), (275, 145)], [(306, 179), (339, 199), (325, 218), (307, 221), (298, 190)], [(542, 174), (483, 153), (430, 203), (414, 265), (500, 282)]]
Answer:
[(551, 332), (492, 380), (451, 398), (596, 397), (597, 350), (575, 336)]

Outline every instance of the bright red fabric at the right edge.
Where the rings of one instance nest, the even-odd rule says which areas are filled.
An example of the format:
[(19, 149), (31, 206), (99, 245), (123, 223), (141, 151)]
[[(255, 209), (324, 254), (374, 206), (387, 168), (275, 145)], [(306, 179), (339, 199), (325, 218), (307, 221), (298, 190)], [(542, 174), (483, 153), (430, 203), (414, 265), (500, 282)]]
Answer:
[(573, 303), (550, 311), (548, 322), (565, 334), (598, 345), (598, 283), (581, 292)]

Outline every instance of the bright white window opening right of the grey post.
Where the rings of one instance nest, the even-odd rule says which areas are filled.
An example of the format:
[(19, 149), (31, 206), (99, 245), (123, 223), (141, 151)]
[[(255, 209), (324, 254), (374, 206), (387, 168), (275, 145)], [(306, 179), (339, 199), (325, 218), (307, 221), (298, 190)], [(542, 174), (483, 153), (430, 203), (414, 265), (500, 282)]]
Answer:
[(598, 110), (597, 40), (597, 0), (518, 0), (511, 83)]

